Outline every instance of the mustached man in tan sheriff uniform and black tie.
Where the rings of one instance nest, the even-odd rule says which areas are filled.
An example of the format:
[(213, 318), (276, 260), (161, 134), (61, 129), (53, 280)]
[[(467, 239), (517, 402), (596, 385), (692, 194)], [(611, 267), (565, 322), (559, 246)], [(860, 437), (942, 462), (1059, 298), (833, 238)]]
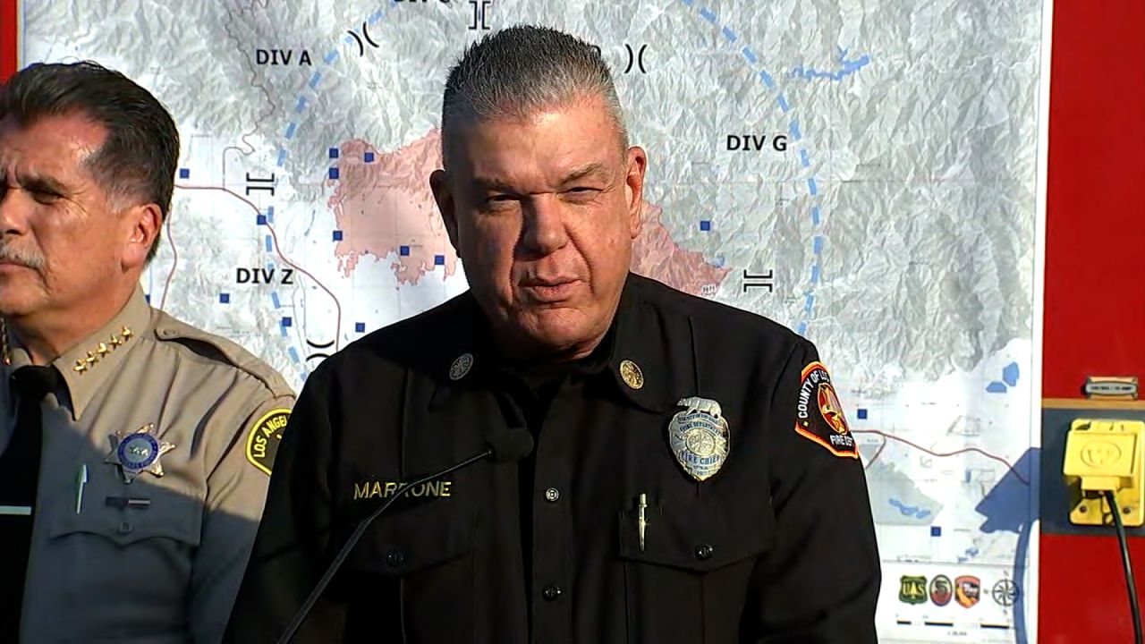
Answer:
[(140, 290), (171, 116), (93, 63), (0, 87), (0, 642), (222, 636), (293, 393)]

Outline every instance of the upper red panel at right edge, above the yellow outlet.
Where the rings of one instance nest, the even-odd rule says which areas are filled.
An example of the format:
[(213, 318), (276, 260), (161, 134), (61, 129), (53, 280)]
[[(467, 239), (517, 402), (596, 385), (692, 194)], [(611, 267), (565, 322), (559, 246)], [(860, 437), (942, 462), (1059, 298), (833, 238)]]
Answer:
[(1045, 398), (1145, 376), (1145, 1), (1053, 8)]

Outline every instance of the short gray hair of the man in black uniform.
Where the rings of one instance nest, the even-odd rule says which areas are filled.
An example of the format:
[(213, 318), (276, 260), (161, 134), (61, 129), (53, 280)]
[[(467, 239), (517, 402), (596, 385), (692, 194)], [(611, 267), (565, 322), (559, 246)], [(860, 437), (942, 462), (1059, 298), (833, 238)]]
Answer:
[(449, 70), (441, 108), (442, 155), (463, 118), (524, 118), (543, 109), (600, 97), (629, 147), (624, 111), (600, 48), (547, 26), (518, 25), (466, 47)]

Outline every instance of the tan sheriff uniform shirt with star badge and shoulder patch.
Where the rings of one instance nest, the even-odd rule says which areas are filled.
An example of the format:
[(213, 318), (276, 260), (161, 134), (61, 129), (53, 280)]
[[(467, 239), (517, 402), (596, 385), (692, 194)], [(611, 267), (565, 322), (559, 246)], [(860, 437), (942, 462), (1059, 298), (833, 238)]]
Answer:
[[(19, 347), (9, 354), (0, 448), (15, 422), (8, 376), (30, 363)], [(290, 386), (238, 345), (152, 309), (142, 291), (53, 364), (66, 386), (42, 403), (21, 642), (220, 641)]]

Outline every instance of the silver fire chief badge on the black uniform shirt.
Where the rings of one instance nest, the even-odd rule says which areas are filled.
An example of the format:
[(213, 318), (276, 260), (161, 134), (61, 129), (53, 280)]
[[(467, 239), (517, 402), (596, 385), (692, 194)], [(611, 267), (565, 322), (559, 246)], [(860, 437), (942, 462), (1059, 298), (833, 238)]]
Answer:
[(731, 434), (719, 403), (706, 398), (680, 399), (677, 411), (668, 424), (668, 441), (672, 455), (684, 471), (697, 481), (711, 478), (727, 460)]

